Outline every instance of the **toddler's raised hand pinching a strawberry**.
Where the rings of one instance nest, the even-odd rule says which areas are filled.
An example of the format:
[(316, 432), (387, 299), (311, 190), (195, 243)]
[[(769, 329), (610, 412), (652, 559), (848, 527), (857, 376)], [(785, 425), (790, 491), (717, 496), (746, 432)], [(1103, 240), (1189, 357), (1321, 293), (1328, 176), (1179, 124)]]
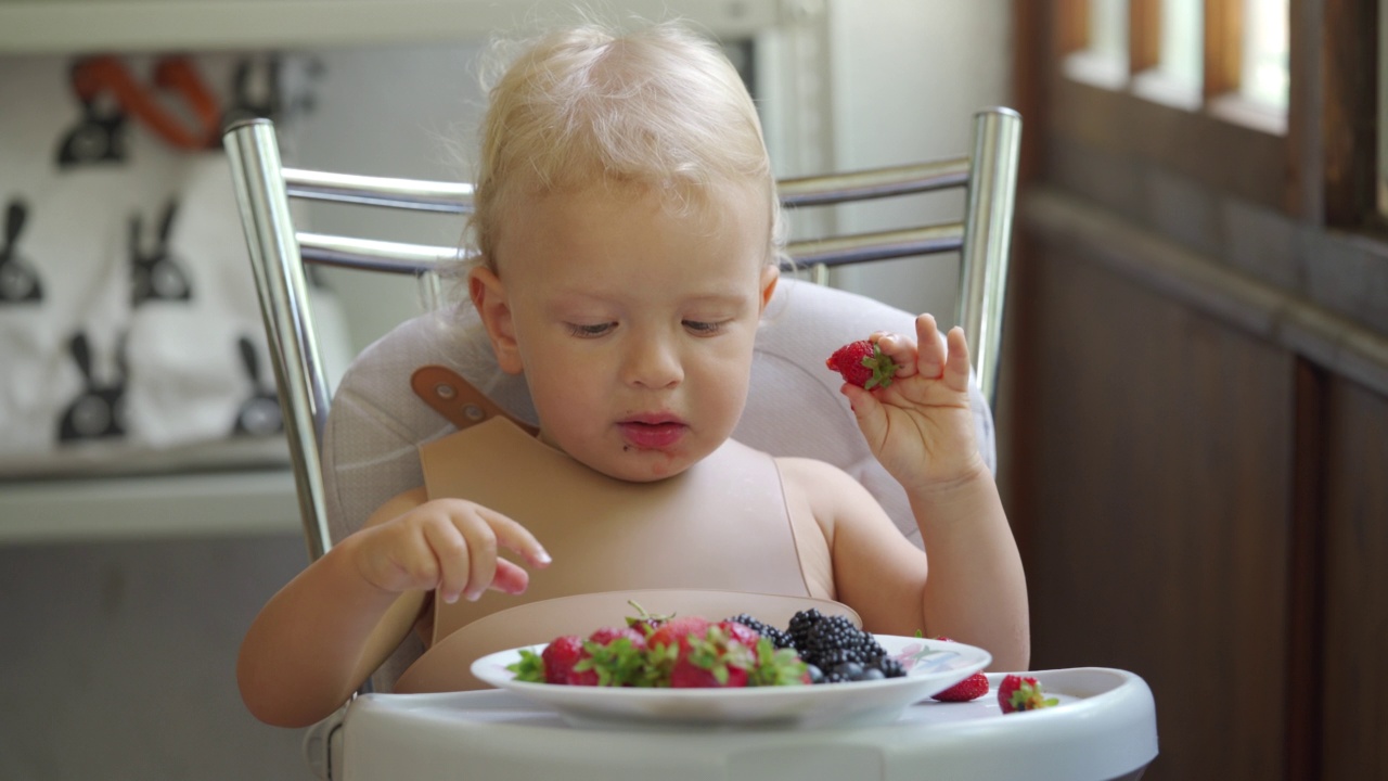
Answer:
[(863, 390), (845, 382), (841, 392), (883, 467), (908, 492), (948, 486), (987, 471), (969, 406), (963, 329), (955, 327), (941, 340), (936, 318), (922, 314), (915, 340), (880, 332), (869, 339), (897, 363), (891, 385)]

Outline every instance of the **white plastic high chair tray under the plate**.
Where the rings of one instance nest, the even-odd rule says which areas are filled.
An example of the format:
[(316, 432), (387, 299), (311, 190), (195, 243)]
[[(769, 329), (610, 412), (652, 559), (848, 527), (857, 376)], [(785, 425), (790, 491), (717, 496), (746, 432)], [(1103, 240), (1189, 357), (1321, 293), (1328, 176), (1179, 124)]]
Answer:
[[(1142, 678), (1099, 667), (1029, 675), (1060, 705), (1004, 714), (991, 693), (926, 700), (854, 730), (580, 730), (501, 691), (364, 695), (347, 710), (343, 766), (346, 781), (1116, 781), (1156, 757)], [(992, 691), (1001, 678), (988, 675)]]

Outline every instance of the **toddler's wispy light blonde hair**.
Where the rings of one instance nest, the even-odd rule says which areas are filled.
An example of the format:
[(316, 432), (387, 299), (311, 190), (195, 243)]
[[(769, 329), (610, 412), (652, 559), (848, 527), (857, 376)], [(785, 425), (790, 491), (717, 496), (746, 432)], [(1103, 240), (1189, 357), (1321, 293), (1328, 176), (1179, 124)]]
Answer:
[(751, 183), (765, 190), (768, 263), (780, 260), (780, 203), (756, 107), (718, 44), (684, 25), (552, 32), (530, 42), (489, 96), (468, 231), (493, 270), (515, 199), (594, 183), (644, 186), (672, 208)]

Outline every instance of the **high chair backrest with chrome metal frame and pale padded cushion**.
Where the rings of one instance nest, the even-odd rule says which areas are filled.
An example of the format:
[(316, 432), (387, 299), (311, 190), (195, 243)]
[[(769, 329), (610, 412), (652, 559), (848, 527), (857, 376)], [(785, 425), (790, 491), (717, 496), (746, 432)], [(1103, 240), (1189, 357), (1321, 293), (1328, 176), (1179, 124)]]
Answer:
[[(967, 156), (779, 183), (787, 207), (966, 189), (960, 221), (794, 242), (787, 249), (799, 267), (960, 253), (956, 313), (970, 339), (974, 414), (990, 466), (1020, 124), (1015, 111), (990, 108), (974, 115)], [(266, 120), (233, 125), (223, 142), (285, 411), (305, 541), (316, 559), (382, 502), (419, 485), (415, 447), (455, 431), (415, 396), (409, 385), (415, 368), (448, 365), (516, 417), (533, 421), (534, 413), (523, 378), (497, 370), (466, 303), (411, 320), (364, 350), (336, 397), (323, 378), (304, 263), (412, 274), (437, 289), (437, 271), (455, 261), (458, 250), (300, 232), (289, 199), (466, 213), (471, 186), (285, 168)], [(912, 313), (854, 293), (784, 281), (758, 334), (748, 406), (734, 436), (773, 454), (820, 457), (844, 467), (919, 543), (904, 492), (867, 452), (838, 396), (838, 379), (823, 370), (824, 356), (838, 345), (877, 329), (911, 334), (912, 321)], [(804, 425), (806, 420), (818, 422)]]

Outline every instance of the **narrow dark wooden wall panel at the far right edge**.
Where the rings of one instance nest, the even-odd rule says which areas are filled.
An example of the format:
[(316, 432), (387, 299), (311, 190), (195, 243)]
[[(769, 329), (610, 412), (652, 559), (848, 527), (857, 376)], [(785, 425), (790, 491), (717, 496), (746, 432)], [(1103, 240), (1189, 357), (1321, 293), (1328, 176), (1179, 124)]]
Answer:
[(1321, 778), (1388, 778), (1388, 397), (1326, 397)]

